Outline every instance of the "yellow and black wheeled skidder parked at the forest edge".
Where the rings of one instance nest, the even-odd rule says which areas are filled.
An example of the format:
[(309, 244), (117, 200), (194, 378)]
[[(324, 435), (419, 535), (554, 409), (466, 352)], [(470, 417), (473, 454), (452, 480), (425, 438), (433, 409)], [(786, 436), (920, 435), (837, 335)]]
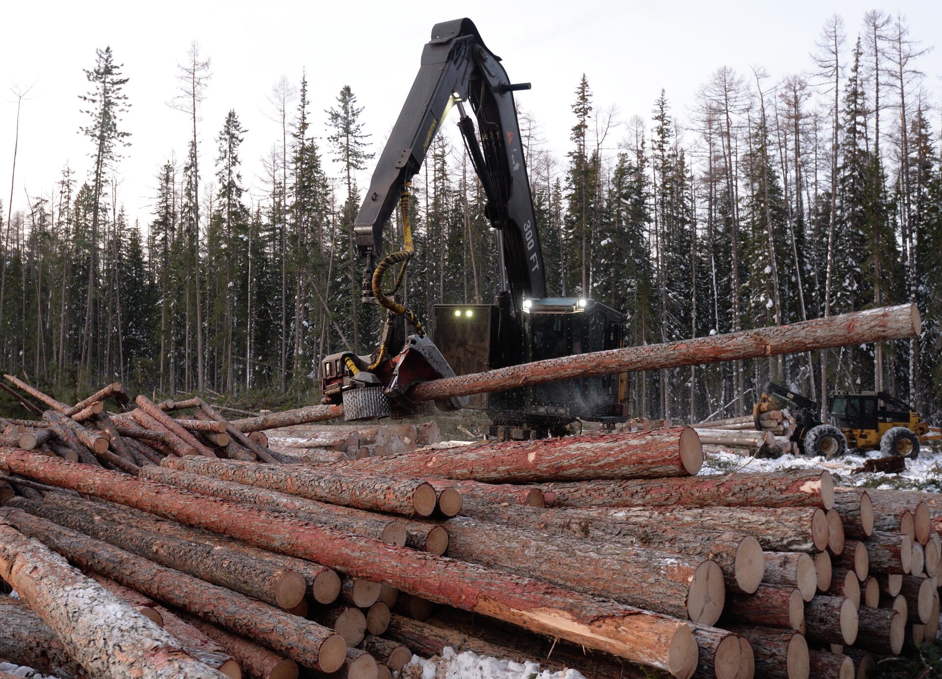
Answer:
[(754, 414), (757, 420), (760, 412), (788, 406), (795, 416), (791, 440), (805, 455), (830, 458), (852, 448), (915, 459), (920, 445), (942, 441), (942, 430), (930, 427), (912, 407), (886, 392), (835, 392), (830, 401), (830, 422), (823, 422), (817, 401), (770, 382)]

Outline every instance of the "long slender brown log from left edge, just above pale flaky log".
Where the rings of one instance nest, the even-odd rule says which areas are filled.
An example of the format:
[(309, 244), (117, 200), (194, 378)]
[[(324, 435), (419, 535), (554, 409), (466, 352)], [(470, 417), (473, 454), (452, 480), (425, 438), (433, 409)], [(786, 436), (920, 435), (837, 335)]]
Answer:
[(313, 622), (159, 566), (88, 536), (37, 518), (20, 509), (0, 509), (9, 524), (83, 568), (110, 577), (124, 587), (258, 639), (308, 667), (334, 671), (343, 663), (346, 644)]

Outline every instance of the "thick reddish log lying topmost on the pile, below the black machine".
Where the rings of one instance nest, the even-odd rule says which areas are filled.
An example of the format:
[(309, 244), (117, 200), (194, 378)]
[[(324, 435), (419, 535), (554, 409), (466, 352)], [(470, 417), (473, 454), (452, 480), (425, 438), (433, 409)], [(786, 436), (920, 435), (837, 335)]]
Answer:
[(528, 483), (593, 478), (686, 477), (700, 471), (703, 448), (691, 428), (507, 441), (448, 450), (415, 450), (382, 458), (333, 462), (319, 468)]

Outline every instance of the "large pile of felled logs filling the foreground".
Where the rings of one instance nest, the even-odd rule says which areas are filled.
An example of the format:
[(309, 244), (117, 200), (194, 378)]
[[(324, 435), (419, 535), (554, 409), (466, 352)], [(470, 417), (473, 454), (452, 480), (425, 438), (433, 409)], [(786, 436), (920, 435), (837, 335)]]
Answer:
[(3, 423), (0, 659), (60, 679), (376, 679), (445, 645), (603, 679), (844, 679), (938, 628), (939, 496), (695, 476), (691, 428), (312, 462), (252, 432), (323, 407), (106, 412), (120, 385), (68, 406), (13, 383), (50, 410)]

